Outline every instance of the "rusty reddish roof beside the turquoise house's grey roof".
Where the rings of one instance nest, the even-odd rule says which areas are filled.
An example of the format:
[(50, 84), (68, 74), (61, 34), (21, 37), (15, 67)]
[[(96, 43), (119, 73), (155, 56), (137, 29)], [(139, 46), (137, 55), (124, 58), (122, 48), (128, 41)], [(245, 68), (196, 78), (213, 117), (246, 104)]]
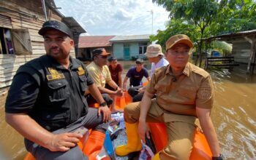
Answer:
[(78, 48), (109, 47), (114, 36), (80, 36)]

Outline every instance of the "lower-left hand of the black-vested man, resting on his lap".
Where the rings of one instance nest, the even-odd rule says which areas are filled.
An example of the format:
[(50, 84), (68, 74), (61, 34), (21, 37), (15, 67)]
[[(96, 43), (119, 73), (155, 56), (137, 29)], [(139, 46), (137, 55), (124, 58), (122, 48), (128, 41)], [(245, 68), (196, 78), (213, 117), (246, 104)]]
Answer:
[(52, 135), (48, 142), (46, 142), (45, 148), (48, 148), (50, 151), (69, 151), (70, 148), (75, 147), (81, 137), (83, 135), (78, 133)]

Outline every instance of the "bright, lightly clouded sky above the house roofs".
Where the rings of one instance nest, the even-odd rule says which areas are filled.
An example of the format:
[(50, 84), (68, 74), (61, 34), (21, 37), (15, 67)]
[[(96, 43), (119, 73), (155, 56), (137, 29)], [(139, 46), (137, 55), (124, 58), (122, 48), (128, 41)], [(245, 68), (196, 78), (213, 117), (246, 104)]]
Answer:
[(156, 34), (169, 20), (169, 12), (151, 0), (55, 0), (55, 4), (87, 31), (82, 36)]

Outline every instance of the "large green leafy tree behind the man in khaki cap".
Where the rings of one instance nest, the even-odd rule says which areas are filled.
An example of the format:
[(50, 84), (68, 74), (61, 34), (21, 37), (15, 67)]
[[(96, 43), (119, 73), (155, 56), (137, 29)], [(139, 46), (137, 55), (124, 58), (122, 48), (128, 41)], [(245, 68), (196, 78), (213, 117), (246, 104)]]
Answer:
[[(152, 0), (170, 12), (170, 23), (165, 31), (158, 31), (159, 44), (170, 35), (186, 33), (193, 41), (222, 33), (256, 28), (256, 4), (252, 0)], [(179, 24), (176, 24), (179, 23)], [(167, 38), (166, 38), (167, 37)], [(203, 41), (197, 42), (199, 65), (202, 63)], [(197, 64), (197, 60), (196, 60)]]

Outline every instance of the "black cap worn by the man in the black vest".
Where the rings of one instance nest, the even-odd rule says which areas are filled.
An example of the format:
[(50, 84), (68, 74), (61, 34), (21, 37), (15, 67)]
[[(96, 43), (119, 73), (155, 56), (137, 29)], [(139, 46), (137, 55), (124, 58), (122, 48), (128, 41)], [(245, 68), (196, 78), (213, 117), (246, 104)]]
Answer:
[(38, 31), (39, 35), (44, 36), (46, 31), (49, 30), (57, 30), (62, 33), (67, 34), (70, 38), (72, 37), (72, 32), (64, 23), (61, 23), (57, 20), (48, 20), (44, 24), (42, 24), (42, 28)]

